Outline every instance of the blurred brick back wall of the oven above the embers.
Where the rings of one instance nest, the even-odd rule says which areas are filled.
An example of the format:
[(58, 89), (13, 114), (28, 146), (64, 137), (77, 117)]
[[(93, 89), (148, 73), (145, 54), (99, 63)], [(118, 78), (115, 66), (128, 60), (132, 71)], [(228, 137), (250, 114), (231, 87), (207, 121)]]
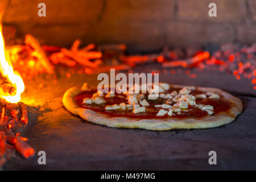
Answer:
[[(1, 0), (6, 1), (6, 0)], [(46, 17), (38, 3), (46, 3)], [(208, 16), (210, 2), (217, 17)], [(1, 3), (0, 3), (1, 4)], [(51, 45), (126, 43), (131, 50), (256, 41), (255, 0), (10, 0), (3, 23)]]

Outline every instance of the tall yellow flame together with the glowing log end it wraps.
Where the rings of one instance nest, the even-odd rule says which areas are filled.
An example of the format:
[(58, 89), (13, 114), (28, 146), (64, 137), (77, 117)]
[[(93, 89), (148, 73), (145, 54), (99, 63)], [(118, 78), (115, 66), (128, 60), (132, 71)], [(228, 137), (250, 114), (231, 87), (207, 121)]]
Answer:
[(11, 103), (20, 101), (20, 94), (25, 86), (22, 78), (14, 72), (9, 54), (5, 52), (5, 41), (2, 35), (2, 26), (0, 25), (0, 69), (2, 73), (2, 85), (0, 96)]

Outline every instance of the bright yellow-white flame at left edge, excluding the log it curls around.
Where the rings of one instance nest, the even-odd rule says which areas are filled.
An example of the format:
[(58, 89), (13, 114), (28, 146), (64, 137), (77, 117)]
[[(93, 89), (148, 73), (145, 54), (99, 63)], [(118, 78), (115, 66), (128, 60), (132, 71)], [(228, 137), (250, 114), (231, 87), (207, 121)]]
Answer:
[(20, 94), (25, 89), (22, 77), (17, 72), (14, 72), (13, 65), (11, 64), (9, 54), (5, 52), (5, 41), (3, 40), (2, 25), (0, 24), (0, 71), (2, 75), (16, 87), (15, 96), (0, 96), (5, 98), (6, 101), (15, 103), (20, 101)]

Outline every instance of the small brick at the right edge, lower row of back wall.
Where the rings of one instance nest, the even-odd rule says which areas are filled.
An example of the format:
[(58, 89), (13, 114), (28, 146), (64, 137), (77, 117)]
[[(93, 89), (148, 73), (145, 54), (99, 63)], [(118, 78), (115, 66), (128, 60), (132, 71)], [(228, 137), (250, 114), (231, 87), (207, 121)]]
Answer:
[(256, 25), (255, 24), (239, 24), (237, 26), (237, 40), (241, 43), (256, 42)]

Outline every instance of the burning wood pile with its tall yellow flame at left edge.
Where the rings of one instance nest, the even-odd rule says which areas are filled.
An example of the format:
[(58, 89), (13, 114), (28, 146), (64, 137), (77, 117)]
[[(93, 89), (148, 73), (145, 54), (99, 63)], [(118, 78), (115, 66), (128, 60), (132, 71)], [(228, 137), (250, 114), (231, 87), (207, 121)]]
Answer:
[[(26, 138), (19, 137), (19, 130), (28, 122), (27, 105), (20, 101), (20, 94), (24, 91), (24, 83), (18, 73), (14, 72), (9, 53), (5, 52), (5, 42), (0, 25), (0, 167), (6, 158), (13, 156), (13, 148), (24, 158), (34, 155), (34, 149), (26, 143)], [(7, 101), (7, 102), (6, 102)], [(18, 104), (15, 104), (19, 102)]]

